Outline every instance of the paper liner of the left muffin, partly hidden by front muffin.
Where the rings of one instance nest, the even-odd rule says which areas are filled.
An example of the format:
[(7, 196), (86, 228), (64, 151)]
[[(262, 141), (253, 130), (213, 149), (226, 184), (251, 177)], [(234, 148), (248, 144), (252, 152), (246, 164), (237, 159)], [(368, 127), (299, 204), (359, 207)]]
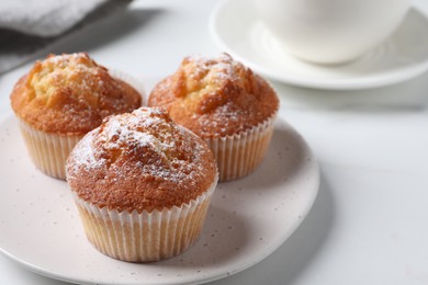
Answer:
[(47, 134), (19, 118), (21, 134), (34, 164), (44, 173), (65, 180), (66, 160), (82, 135)]

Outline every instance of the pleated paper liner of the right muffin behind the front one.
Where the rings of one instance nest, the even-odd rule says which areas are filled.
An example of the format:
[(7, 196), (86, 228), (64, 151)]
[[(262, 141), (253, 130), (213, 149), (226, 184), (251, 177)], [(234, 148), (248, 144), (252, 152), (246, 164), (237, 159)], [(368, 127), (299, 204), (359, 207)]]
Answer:
[(261, 163), (272, 138), (275, 117), (277, 112), (237, 135), (204, 138), (217, 162), (219, 182), (246, 176)]

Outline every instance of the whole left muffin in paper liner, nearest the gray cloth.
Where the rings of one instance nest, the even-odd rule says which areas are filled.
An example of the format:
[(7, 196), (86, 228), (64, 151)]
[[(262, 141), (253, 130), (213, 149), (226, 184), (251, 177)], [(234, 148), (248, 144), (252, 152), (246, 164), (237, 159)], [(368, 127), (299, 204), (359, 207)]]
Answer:
[(64, 180), (76, 142), (104, 117), (139, 107), (142, 94), (87, 54), (49, 55), (18, 81), (11, 105), (35, 166)]

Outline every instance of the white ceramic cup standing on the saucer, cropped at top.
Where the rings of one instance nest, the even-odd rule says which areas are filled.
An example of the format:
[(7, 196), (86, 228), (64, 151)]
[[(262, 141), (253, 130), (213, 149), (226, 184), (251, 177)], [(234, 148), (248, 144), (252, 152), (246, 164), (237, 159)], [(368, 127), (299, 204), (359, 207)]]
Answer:
[(410, 0), (254, 0), (288, 53), (318, 64), (358, 58), (399, 25)]

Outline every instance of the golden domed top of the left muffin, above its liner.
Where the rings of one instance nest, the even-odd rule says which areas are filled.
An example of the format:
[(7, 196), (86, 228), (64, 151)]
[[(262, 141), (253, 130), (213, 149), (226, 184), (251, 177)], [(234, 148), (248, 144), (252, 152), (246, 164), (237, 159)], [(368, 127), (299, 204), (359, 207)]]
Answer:
[(11, 104), (38, 130), (82, 135), (109, 115), (139, 107), (142, 95), (80, 53), (36, 61), (12, 90)]

